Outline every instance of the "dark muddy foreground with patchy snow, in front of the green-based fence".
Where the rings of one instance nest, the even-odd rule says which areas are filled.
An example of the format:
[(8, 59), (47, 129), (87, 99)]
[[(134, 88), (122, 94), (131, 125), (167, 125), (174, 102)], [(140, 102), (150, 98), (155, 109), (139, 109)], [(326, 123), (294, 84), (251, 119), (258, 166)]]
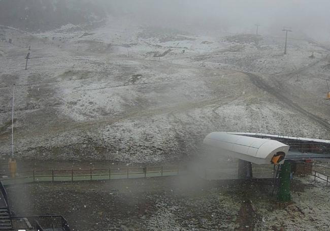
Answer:
[(293, 202), (281, 205), (272, 180), (181, 176), (8, 187), (16, 215), (62, 214), (72, 230), (328, 230), (325, 184), (296, 178), (291, 190)]

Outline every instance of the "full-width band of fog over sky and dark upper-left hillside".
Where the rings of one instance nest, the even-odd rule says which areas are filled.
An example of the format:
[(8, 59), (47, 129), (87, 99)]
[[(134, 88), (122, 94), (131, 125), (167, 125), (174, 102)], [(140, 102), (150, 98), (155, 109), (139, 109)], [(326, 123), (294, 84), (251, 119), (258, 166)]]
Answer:
[[(259, 23), (263, 35), (283, 35), (281, 29), (287, 26), (294, 31), (294, 37), (305, 34), (318, 41), (328, 41), (329, 7), (326, 0), (0, 0), (0, 24), (37, 31), (54, 29), (45, 24), (58, 26), (65, 19), (75, 24), (87, 18), (110, 16), (191, 32), (235, 34), (254, 33), (255, 24)], [(57, 14), (50, 14), (49, 8)], [(65, 8), (71, 11), (63, 12)], [(57, 20), (61, 23), (56, 24)]]

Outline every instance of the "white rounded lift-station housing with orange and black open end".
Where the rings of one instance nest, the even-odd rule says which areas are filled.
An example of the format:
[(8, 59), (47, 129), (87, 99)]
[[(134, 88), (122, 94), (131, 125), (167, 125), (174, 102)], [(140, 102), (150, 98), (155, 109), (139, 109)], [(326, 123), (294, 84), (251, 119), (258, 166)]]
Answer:
[(256, 164), (282, 164), (289, 146), (281, 142), (255, 137), (214, 132), (203, 142), (216, 155), (230, 156)]

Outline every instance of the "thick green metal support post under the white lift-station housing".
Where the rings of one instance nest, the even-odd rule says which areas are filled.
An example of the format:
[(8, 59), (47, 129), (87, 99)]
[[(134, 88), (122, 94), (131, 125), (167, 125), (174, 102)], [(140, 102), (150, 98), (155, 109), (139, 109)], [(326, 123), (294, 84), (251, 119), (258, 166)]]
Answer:
[(284, 161), (284, 163), (281, 166), (280, 185), (277, 195), (277, 199), (280, 202), (291, 201), (290, 174), (291, 174), (291, 163), (290, 161)]

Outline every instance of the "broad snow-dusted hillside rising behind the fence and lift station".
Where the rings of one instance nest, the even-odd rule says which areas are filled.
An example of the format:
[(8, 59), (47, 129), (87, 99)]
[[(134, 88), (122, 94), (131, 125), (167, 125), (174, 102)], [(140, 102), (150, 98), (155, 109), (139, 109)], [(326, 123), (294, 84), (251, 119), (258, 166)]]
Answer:
[(0, 155), (13, 84), (20, 158), (174, 161), (216, 130), (329, 139), (328, 50), (291, 39), (283, 55), (283, 41), (114, 18), (40, 34), (2, 26)]

